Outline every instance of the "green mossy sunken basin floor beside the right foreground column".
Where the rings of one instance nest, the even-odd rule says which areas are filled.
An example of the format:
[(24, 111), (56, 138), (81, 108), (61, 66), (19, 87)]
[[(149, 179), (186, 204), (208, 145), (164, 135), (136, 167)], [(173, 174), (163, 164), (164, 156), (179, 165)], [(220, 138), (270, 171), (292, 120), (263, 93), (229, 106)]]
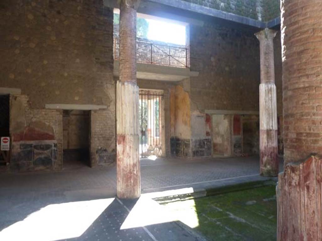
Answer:
[(274, 185), (163, 205), (209, 240), (276, 240)]

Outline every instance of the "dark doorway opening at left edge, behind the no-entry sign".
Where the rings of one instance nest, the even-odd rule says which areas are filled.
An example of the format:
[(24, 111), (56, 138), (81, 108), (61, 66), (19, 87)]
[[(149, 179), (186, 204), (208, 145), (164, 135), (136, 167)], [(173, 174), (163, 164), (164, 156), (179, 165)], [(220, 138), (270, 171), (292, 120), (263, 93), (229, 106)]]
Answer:
[[(9, 137), (9, 94), (0, 95), (0, 137)], [(0, 150), (0, 165), (9, 162), (9, 151)]]

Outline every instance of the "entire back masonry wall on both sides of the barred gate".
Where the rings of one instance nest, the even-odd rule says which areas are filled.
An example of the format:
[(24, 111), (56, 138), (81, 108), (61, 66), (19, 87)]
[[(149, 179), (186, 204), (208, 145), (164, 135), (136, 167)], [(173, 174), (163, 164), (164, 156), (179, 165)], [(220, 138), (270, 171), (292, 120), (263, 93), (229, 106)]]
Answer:
[[(87, 106), (90, 165), (113, 163), (117, 81), (113, 10), (103, 7), (103, 1), (3, 0), (0, 20), (0, 50), (5, 56), (0, 60), (0, 88), (14, 89), (7, 93), (10, 168), (63, 168), (63, 108), (48, 109), (49, 104), (68, 105), (69, 110)], [(164, 90), (165, 156), (213, 154), (209, 111), (259, 111), (260, 51), (253, 32), (207, 19), (203, 22), (203, 26), (189, 27), (188, 62), (198, 76), (179, 82), (137, 82), (140, 88)], [(281, 116), (280, 33), (274, 41)], [(249, 122), (251, 131), (256, 121)], [(248, 133), (246, 141), (256, 143), (255, 134)], [(281, 146), (282, 142), (279, 138)]]

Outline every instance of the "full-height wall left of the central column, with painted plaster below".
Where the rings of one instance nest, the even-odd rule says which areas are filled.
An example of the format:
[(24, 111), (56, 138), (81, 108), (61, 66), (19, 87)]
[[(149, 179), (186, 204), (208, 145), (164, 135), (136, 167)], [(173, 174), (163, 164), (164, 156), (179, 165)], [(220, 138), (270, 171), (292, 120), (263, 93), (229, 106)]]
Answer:
[(0, 87), (21, 93), (11, 93), (10, 168), (62, 168), (62, 110), (47, 104), (101, 106), (89, 108), (91, 165), (114, 161), (112, 10), (103, 1), (4, 0), (0, 20)]

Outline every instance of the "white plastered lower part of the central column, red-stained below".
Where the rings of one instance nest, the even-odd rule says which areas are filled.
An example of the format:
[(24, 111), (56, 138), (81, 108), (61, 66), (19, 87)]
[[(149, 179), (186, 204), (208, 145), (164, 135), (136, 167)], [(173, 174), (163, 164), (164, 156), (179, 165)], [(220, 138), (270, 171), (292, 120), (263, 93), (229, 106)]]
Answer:
[(141, 195), (139, 163), (139, 88), (133, 82), (116, 85), (117, 196)]

